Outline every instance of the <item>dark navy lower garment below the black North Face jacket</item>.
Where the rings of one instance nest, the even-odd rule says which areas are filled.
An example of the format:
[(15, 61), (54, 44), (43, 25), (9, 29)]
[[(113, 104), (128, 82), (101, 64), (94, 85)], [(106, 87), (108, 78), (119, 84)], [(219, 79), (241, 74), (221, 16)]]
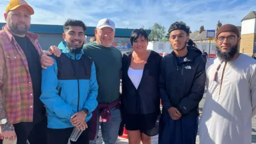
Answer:
[(159, 144), (195, 144), (198, 130), (198, 116), (182, 116), (173, 120), (163, 110), (159, 122)]

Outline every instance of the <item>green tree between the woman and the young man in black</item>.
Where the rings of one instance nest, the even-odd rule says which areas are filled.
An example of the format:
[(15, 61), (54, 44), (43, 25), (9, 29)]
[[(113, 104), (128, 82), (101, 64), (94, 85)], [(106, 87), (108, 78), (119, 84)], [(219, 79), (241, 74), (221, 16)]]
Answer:
[(165, 28), (164, 26), (159, 25), (158, 23), (154, 23), (154, 26), (150, 28), (151, 33), (148, 38), (149, 41), (159, 41), (165, 38)]

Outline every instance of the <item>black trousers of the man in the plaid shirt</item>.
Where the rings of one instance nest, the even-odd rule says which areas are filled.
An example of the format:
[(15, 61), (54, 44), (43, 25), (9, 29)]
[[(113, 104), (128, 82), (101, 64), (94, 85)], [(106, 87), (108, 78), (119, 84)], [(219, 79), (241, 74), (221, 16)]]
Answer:
[(47, 117), (38, 123), (20, 122), (13, 124), (17, 135), (17, 144), (26, 144), (27, 140), (30, 144), (46, 144)]

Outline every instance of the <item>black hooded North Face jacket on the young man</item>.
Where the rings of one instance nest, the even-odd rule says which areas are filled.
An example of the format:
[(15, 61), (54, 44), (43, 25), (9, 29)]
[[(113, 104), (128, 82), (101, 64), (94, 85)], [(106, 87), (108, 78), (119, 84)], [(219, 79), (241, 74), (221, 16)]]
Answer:
[(177, 108), (182, 116), (199, 115), (198, 105), (205, 89), (205, 59), (196, 47), (178, 64), (174, 52), (161, 61), (159, 91), (163, 110)]

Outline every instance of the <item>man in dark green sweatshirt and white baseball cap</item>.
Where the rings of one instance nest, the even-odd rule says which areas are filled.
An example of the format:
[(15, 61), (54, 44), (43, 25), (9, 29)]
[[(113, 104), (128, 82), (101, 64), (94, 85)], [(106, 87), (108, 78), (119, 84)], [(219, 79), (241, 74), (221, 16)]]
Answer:
[[(94, 32), (96, 41), (83, 45), (84, 54), (94, 61), (99, 85), (97, 97), (99, 104), (93, 111), (92, 120), (95, 119), (95, 123), (92, 122), (91, 126), (91, 143), (96, 142), (99, 126), (101, 126), (103, 143), (114, 144), (118, 138), (119, 126), (122, 121), (119, 110), (122, 53), (111, 46), (115, 38), (115, 23), (113, 21), (101, 19)], [(59, 50), (53, 46), (50, 49), (54, 54), (59, 53)], [(53, 62), (49, 58), (47, 55), (42, 56), (43, 68), (52, 65)]]

